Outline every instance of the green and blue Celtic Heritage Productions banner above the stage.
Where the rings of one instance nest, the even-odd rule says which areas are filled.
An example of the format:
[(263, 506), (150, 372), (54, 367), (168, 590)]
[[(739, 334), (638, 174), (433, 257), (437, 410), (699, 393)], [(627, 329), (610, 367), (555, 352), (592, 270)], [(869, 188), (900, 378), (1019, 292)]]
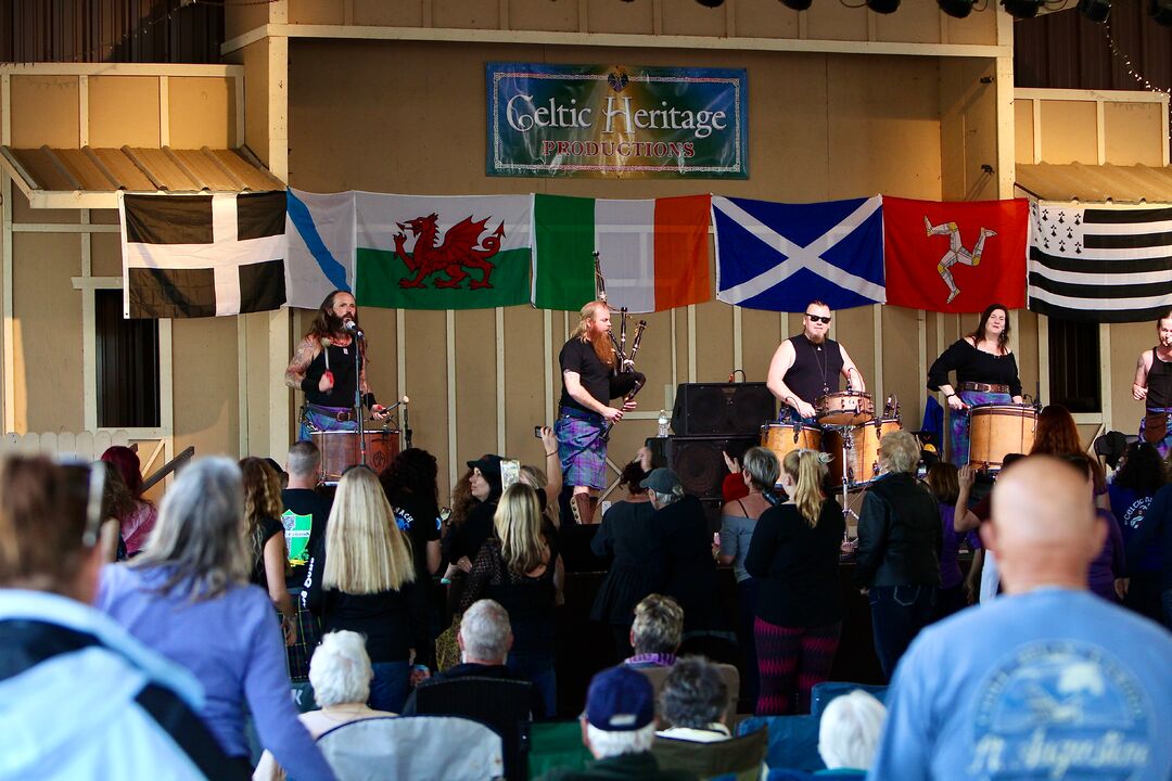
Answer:
[(744, 69), (485, 64), (498, 177), (749, 177)]

